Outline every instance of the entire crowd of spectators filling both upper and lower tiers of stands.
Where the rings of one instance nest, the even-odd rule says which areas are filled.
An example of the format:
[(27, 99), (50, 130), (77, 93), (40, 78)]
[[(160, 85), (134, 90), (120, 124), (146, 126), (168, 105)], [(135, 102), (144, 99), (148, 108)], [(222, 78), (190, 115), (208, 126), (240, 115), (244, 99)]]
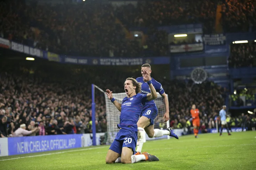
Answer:
[[(10, 0), (0, 3), (0, 37), (58, 54), (138, 57), (145, 56), (145, 49), (137, 41), (126, 38), (124, 27), (149, 27), (149, 38), (145, 43), (152, 51), (151, 56), (168, 56), (168, 34), (157, 31), (155, 27), (204, 23), (204, 33), (211, 34), (215, 26), (216, 8), (220, 3), (223, 4), (221, 23), (224, 31), (248, 31), (256, 25), (253, 17), (256, 15), (255, 2), (252, 0), (200, 0), (199, 3), (185, 0), (152, 1), (138, 2), (137, 7), (129, 4), (118, 8), (102, 3), (63, 3), (55, 6)], [(170, 10), (167, 11), (167, 8)], [(117, 22), (117, 18), (121, 23)], [(255, 48), (255, 43), (232, 44), (229, 66), (256, 66)], [(22, 123), (28, 129), (33, 129), (40, 121), (45, 124), (45, 133), (38, 132), (37, 135), (91, 133), (90, 84), (101, 84), (102, 89), (112, 87), (118, 93), (123, 92), (123, 88), (116, 84), (122, 84), (123, 77), (130, 76), (127, 72), (117, 71), (113, 75), (113, 71), (101, 70), (105, 75), (113, 75), (106, 79), (94, 74), (95, 68), (92, 67), (63, 68), (56, 63), (35, 66), (32, 70), (26, 65), (16, 67), (17, 63), (12, 64), (2, 65), (0, 73), (0, 115), (8, 117), (8, 134), (12, 134)], [(173, 128), (188, 126), (189, 109), (193, 103), (201, 110), (202, 131), (215, 128), (214, 121), (224, 103), (223, 98), (229, 93), (227, 89), (213, 82), (192, 88), (181, 80), (160, 78), (159, 82), (163, 82), (169, 95)], [(106, 109), (100, 95), (96, 104), (97, 132), (106, 132)], [(158, 119), (159, 124), (163, 123), (160, 117)], [(239, 126), (239, 119), (232, 118), (234, 126)], [(55, 125), (54, 120), (57, 120)], [(248, 121), (251, 120), (248, 117)]]

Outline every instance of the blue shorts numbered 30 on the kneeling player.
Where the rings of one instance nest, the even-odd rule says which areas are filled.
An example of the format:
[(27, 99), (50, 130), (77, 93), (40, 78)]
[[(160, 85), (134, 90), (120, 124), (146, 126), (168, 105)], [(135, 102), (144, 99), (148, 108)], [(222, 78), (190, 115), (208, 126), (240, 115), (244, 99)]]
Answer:
[(127, 129), (120, 129), (109, 149), (121, 155), (123, 147), (128, 147), (131, 148), (134, 153), (137, 144), (137, 138), (137, 132)]

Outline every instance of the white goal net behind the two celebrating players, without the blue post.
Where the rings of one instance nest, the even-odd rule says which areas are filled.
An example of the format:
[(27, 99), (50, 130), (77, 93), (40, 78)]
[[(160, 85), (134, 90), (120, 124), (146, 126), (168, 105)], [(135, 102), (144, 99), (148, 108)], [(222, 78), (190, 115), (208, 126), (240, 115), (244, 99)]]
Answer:
[[(166, 94), (167, 95), (167, 94)], [(123, 98), (125, 98), (127, 95), (126, 93), (113, 93), (113, 97), (119, 102), (122, 103)], [(168, 95), (167, 95), (168, 97)], [(106, 116), (107, 116), (107, 143), (110, 144), (114, 141), (116, 134), (118, 133), (119, 129), (117, 127), (117, 124), (120, 122), (120, 112), (114, 104), (108, 99), (107, 95), (105, 95), (106, 100)], [(165, 105), (163, 98), (161, 95), (157, 92), (157, 98), (154, 100), (158, 109), (158, 114), (156, 119), (154, 120), (154, 129), (167, 129), (170, 127), (170, 123), (164, 122), (164, 119), (162, 117), (165, 113)], [(162, 136), (159, 138), (149, 138), (146, 136), (146, 140), (154, 140), (154, 139), (169, 139), (170, 136)]]

